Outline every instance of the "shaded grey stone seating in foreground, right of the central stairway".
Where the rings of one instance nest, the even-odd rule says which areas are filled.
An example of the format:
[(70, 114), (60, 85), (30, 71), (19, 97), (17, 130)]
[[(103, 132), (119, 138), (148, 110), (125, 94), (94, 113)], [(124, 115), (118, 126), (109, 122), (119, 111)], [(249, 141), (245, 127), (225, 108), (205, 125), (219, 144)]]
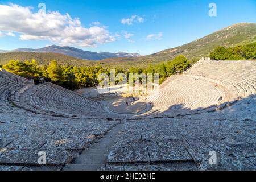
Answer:
[[(254, 96), (214, 113), (129, 120), (104, 169), (256, 170), (255, 106)], [(210, 151), (217, 165), (209, 164)]]

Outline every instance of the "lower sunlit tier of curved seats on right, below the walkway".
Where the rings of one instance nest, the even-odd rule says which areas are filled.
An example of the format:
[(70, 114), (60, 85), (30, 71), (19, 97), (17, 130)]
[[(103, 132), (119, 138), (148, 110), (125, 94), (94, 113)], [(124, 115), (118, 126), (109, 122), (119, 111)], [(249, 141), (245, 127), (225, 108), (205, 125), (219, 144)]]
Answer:
[(217, 105), (225, 101), (226, 92), (213, 82), (187, 76), (175, 76), (164, 87), (160, 86), (158, 96), (148, 100), (154, 107), (147, 114), (169, 113), (179, 109), (198, 109)]

